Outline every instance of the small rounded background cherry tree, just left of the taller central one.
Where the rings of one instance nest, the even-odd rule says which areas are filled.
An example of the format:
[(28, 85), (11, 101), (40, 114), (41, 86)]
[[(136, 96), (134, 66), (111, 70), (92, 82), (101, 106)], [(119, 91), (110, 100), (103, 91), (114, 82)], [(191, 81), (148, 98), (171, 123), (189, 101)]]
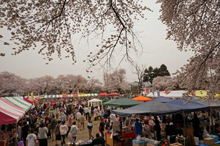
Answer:
[(100, 91), (102, 88), (102, 83), (98, 80), (98, 79), (90, 79), (87, 81), (86, 84), (84, 84), (84, 86), (82, 87), (82, 89), (87, 92), (87, 93), (91, 93), (91, 92), (97, 92)]

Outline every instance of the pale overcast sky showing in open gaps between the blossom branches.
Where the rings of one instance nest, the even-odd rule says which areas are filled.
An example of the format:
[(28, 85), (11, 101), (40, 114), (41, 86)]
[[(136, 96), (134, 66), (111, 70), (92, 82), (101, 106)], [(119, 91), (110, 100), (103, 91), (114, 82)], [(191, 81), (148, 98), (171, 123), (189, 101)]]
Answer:
[[(153, 12), (146, 11), (145, 17), (147, 20), (141, 20), (135, 23), (135, 30), (140, 32), (138, 35), (143, 46), (143, 53), (140, 56), (132, 55), (132, 58), (140, 65), (160, 67), (161, 64), (165, 64), (170, 73), (174, 73), (187, 63), (186, 60), (193, 53), (180, 52), (177, 50), (174, 41), (165, 40), (166, 26), (158, 20), (160, 4), (155, 4), (155, 1), (152, 0), (144, 1), (144, 4), (150, 7)], [(1, 32), (7, 34), (7, 32)], [(0, 52), (6, 53), (5, 57), (0, 57), (0, 72), (8, 71), (25, 78), (45, 75), (57, 77), (60, 74), (81, 74), (84, 77), (90, 76), (102, 81), (104, 69), (100, 69), (97, 66), (92, 68), (93, 73), (87, 74), (86, 69), (88, 65), (83, 62), (89, 52), (94, 50), (95, 44), (99, 44), (100, 40), (93, 40), (88, 45), (83, 41), (79, 43), (78, 38), (79, 36), (76, 36), (75, 39), (73, 38), (73, 44), (77, 53), (77, 63), (75, 65), (72, 65), (71, 59), (65, 59), (64, 57), (62, 60), (59, 60), (56, 55), (54, 55), (54, 60), (49, 65), (46, 65), (45, 63), (47, 61), (43, 59), (44, 56), (39, 55), (37, 51), (25, 51), (19, 55), (11, 56), (11, 48), (13, 46), (4, 46), (0, 42)], [(121, 58), (121, 54), (114, 54), (114, 56), (116, 62)], [(129, 82), (137, 80), (136, 75), (132, 73), (131, 67), (127, 62), (123, 62), (120, 67), (127, 70), (127, 79)]]

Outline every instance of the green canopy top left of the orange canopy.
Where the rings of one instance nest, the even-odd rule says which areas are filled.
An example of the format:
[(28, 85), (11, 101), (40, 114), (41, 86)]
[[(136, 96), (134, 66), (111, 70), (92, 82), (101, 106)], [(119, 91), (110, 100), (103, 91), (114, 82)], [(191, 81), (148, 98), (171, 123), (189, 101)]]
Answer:
[(104, 104), (112, 107), (131, 107), (138, 105), (140, 103), (142, 102), (128, 98), (120, 98), (120, 99), (110, 100), (108, 102), (105, 102)]

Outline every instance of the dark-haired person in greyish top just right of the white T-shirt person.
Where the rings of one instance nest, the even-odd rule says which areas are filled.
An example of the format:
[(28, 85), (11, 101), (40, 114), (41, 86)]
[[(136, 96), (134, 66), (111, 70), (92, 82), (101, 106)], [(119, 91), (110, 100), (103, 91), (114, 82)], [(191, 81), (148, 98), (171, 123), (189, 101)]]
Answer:
[(39, 127), (39, 146), (47, 146), (47, 133), (48, 129), (44, 123), (40, 124)]

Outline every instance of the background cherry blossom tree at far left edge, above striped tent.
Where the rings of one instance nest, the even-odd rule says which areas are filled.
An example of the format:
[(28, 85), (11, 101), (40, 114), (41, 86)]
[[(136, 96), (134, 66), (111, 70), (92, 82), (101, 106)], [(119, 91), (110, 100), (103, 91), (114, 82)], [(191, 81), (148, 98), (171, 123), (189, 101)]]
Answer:
[(13, 73), (0, 73), (0, 96), (12, 96), (22, 94), (26, 86), (26, 80)]

